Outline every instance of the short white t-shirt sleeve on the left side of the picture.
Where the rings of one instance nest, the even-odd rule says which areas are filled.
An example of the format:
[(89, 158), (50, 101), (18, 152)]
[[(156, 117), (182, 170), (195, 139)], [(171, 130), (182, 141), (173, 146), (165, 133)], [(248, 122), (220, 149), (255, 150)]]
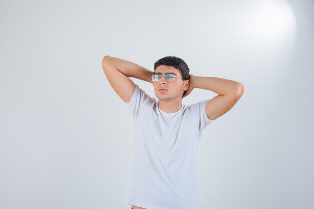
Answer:
[(139, 111), (142, 109), (143, 105), (151, 101), (152, 98), (145, 93), (137, 84), (135, 84), (135, 91), (130, 100), (130, 102), (124, 102), (128, 107), (133, 119), (136, 120)]

